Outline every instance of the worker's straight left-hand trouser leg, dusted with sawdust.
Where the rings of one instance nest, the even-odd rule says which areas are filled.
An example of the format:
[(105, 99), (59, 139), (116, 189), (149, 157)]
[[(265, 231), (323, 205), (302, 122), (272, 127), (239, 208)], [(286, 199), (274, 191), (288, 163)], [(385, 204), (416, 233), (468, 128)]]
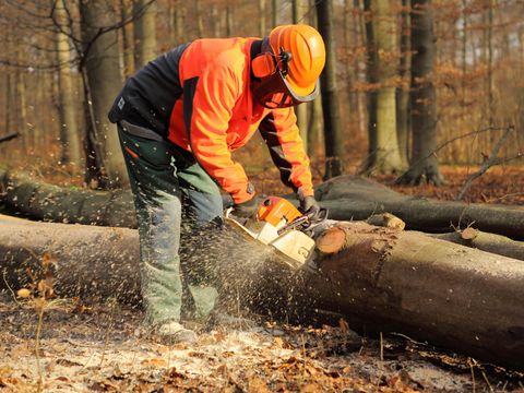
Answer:
[(160, 325), (180, 320), (181, 192), (176, 156), (163, 141), (140, 138), (119, 126), (140, 234), (140, 273), (146, 320)]

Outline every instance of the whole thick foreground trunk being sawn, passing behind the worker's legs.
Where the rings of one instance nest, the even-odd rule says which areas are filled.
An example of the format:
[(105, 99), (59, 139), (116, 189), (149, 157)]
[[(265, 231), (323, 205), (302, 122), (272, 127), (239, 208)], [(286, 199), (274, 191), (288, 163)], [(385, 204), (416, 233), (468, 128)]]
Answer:
[[(273, 273), (242, 265), (247, 253), (213, 261), (224, 276), (257, 285), (246, 298), (273, 303), (261, 274), (287, 306), (343, 314), (352, 327), (402, 332), (511, 368), (524, 368), (524, 264), (419, 233), (341, 223), (319, 239), (319, 270), (283, 279), (275, 253), (258, 252)], [(230, 245), (228, 239), (228, 245)], [(252, 246), (249, 245), (249, 249)], [(264, 248), (267, 250), (267, 248)], [(68, 296), (139, 298), (138, 235), (132, 229), (0, 221), (5, 284), (24, 285), (43, 253), (57, 261), (57, 290)], [(239, 257), (241, 255), (241, 257)], [(36, 259), (35, 259), (36, 258)], [(254, 266), (258, 264), (255, 263)], [(275, 267), (276, 266), (276, 267)], [(289, 272), (287, 272), (289, 274)], [(278, 277), (278, 279), (274, 279)], [(311, 299), (314, 299), (312, 301)], [(281, 306), (286, 306), (281, 305)]]

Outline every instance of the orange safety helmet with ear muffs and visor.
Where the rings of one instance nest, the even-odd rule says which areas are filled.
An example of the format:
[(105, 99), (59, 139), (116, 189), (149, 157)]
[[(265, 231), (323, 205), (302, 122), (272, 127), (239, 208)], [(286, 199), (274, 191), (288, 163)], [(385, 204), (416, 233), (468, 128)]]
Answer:
[(275, 27), (251, 62), (253, 94), (269, 108), (283, 108), (314, 99), (325, 63), (322, 36), (308, 25)]

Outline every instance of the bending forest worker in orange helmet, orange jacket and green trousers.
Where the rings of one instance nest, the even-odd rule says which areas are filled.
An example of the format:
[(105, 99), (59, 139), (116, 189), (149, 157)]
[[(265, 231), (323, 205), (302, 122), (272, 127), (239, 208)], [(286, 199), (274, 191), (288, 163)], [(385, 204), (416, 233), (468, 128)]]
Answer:
[[(322, 37), (307, 25), (279, 26), (263, 39), (196, 39), (151, 61), (116, 98), (109, 119), (134, 195), (146, 323), (160, 338), (196, 338), (180, 324), (182, 213), (193, 227), (222, 217), (221, 189), (234, 215), (255, 213), (254, 188), (231, 152), (257, 130), (302, 212), (318, 213), (293, 106), (317, 97), (324, 62)], [(190, 293), (200, 314), (210, 313), (216, 289)]]

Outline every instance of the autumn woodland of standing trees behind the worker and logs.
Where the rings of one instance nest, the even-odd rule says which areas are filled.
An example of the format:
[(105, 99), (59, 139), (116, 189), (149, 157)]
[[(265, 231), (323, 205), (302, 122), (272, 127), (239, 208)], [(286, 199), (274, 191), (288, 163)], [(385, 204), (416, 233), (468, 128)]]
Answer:
[[(0, 160), (60, 182), (124, 184), (106, 114), (126, 78), (199, 37), (308, 23), (327, 48), (322, 99), (297, 108), (317, 179), (393, 174), (440, 184), (439, 165), (453, 182), (464, 174), (457, 165), (467, 172), (486, 162), (515, 176), (523, 14), (519, 0), (5, 0), (0, 138), (19, 136), (0, 145)], [(272, 191), (277, 175), (262, 144), (255, 139), (235, 157), (259, 190)]]

